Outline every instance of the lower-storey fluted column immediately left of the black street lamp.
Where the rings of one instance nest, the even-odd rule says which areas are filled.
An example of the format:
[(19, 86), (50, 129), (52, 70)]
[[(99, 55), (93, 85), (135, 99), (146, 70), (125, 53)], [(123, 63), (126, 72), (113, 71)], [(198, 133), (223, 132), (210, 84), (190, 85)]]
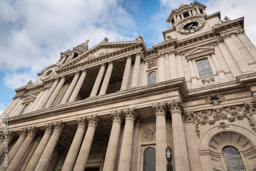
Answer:
[(152, 104), (152, 109), (156, 115), (156, 171), (166, 169), (165, 148), (167, 144), (166, 133), (166, 104)]

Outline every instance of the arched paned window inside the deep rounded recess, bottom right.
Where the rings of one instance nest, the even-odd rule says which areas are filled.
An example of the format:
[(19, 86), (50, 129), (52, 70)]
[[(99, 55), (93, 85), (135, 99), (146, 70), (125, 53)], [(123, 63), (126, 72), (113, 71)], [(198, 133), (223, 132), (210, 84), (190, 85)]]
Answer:
[(223, 158), (228, 171), (244, 170), (243, 160), (238, 152), (238, 149), (232, 146), (226, 146), (222, 149)]

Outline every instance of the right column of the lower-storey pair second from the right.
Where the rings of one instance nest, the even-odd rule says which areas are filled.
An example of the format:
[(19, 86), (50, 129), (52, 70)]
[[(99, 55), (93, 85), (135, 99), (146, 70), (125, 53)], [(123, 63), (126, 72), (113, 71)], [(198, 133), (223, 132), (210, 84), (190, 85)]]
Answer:
[(124, 125), (123, 140), (122, 140), (118, 170), (130, 171), (134, 121), (138, 117), (138, 115), (137, 113), (135, 113), (134, 109), (123, 111), (123, 114), (125, 115), (125, 125)]

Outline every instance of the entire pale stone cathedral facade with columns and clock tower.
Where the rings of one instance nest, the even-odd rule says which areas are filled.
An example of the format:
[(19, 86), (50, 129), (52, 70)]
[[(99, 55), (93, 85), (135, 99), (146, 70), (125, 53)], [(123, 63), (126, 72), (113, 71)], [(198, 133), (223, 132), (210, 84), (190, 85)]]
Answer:
[(256, 170), (256, 48), (244, 17), (194, 2), (147, 49), (61, 52), (1, 115), (0, 170)]

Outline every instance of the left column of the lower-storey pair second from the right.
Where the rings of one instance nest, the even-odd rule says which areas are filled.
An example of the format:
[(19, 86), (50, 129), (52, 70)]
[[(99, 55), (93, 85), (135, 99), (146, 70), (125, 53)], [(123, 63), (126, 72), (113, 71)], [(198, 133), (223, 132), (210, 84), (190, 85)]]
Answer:
[(103, 171), (113, 171), (115, 168), (117, 147), (122, 123), (121, 111), (116, 111), (115, 113), (112, 113), (111, 116), (113, 120), (113, 125), (110, 133), (108, 149), (106, 150)]

